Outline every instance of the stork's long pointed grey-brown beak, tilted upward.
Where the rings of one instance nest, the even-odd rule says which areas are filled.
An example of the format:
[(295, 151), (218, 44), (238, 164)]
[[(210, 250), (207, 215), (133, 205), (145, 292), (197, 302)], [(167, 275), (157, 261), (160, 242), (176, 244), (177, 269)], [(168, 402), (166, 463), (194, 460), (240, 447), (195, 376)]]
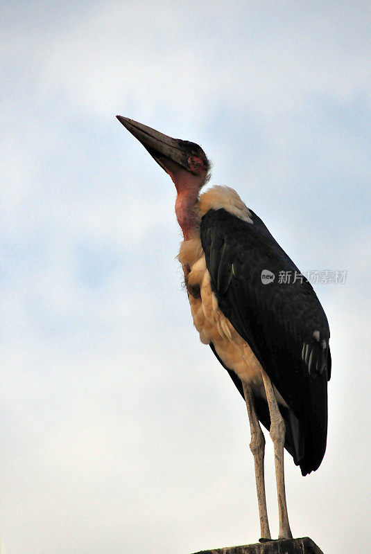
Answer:
[(153, 159), (155, 159), (159, 166), (166, 172), (169, 172), (169, 162), (166, 163), (167, 160), (171, 160), (187, 171), (191, 171), (189, 168), (189, 151), (187, 152), (184, 146), (182, 146), (182, 143), (186, 141), (173, 139), (171, 136), (162, 134), (151, 127), (147, 127), (147, 125), (143, 125), (127, 117), (116, 117), (119, 122), (122, 123), (142, 145), (144, 145), (144, 148), (148, 150)]

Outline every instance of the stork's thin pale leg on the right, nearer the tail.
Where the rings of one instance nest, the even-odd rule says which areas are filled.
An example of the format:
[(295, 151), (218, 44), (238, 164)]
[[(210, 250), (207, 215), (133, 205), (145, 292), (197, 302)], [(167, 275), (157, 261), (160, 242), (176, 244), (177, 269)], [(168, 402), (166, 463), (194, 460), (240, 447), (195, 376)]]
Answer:
[(284, 418), (279, 411), (273, 385), (268, 375), (261, 368), (261, 376), (263, 377), (264, 388), (266, 389), (266, 397), (268, 400), (269, 415), (270, 415), (270, 437), (273, 440), (275, 449), (275, 470), (277, 483), (277, 500), (278, 500), (278, 516), (279, 516), (279, 539), (291, 539), (293, 536), (288, 523), (286, 492), (285, 492), (285, 477), (284, 477), (284, 443), (286, 427)]

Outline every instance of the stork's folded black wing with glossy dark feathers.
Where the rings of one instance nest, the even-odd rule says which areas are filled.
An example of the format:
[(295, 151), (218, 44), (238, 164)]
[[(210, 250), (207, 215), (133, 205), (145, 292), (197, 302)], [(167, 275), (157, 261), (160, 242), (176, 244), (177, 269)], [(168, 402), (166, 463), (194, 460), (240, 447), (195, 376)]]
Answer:
[[(329, 325), (313, 287), (259, 217), (251, 217), (252, 224), (224, 209), (209, 210), (201, 221), (202, 248), (221, 311), (289, 406), (280, 406), (285, 447), (305, 475), (319, 467), (326, 449)], [(267, 270), (275, 278), (264, 284)], [(281, 282), (288, 274), (291, 282)], [(269, 427), (266, 402), (255, 402)]]

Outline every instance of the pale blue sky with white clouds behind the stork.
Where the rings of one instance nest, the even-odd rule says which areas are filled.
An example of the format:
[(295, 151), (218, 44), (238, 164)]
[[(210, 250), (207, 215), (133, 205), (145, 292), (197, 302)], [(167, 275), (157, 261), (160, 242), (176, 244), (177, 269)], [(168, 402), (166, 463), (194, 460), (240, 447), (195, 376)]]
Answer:
[[(114, 118), (202, 145), (331, 328), (318, 472), (291, 527), (370, 540), (371, 35), (366, 1), (1, 8), (3, 554), (190, 554), (259, 537), (245, 406), (192, 327), (166, 174)], [(273, 452), (268, 510), (277, 535)]]

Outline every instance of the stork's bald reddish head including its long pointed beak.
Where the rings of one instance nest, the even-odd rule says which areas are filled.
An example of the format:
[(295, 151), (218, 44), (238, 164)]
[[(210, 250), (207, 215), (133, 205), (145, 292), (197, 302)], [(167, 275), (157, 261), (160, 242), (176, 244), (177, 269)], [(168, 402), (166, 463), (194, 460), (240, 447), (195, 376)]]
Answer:
[(117, 116), (117, 119), (170, 175), (178, 194), (189, 190), (198, 193), (207, 182), (210, 163), (198, 144), (172, 139), (126, 117)]

